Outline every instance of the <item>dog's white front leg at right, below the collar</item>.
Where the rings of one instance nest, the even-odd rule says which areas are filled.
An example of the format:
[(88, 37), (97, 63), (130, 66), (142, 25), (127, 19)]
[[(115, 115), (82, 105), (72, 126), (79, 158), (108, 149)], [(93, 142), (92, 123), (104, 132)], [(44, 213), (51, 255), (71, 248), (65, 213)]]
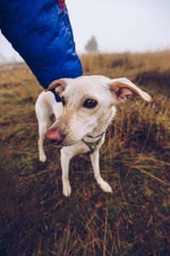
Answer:
[(105, 182), (105, 180), (101, 177), (99, 172), (99, 150), (94, 151), (93, 154), (90, 154), (90, 159), (92, 162), (92, 166), (94, 168), (94, 177), (97, 183), (99, 184), (100, 188), (107, 193), (112, 193), (111, 186)]

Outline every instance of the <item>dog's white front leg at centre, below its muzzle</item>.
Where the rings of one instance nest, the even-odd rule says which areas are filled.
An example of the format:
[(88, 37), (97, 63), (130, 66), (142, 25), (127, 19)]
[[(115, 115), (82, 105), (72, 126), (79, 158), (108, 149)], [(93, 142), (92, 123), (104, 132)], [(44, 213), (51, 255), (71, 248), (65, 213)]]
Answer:
[(63, 183), (63, 194), (65, 196), (71, 195), (71, 185), (69, 181), (69, 164), (73, 157), (71, 151), (67, 148), (61, 148), (61, 169), (62, 169), (62, 183)]

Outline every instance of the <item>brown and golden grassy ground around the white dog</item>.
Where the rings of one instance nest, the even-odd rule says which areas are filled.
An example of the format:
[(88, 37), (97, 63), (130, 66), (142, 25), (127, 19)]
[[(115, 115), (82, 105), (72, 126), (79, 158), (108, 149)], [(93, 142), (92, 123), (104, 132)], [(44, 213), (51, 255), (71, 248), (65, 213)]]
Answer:
[(38, 161), (34, 104), (42, 90), (24, 64), (0, 67), (0, 255), (170, 255), (170, 52), (82, 55), (84, 74), (127, 77), (153, 97), (117, 109), (94, 181), (88, 156), (71, 161), (62, 195), (59, 149)]

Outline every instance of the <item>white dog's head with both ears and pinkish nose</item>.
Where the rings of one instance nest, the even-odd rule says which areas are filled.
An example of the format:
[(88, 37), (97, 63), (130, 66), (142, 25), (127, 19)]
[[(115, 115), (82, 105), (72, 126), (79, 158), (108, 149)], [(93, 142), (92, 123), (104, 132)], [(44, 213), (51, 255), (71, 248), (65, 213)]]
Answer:
[(104, 76), (82, 76), (59, 79), (49, 85), (61, 97), (63, 112), (48, 129), (46, 137), (54, 145), (71, 146), (91, 132), (99, 134), (111, 117), (116, 104), (127, 101), (130, 95), (150, 96), (128, 79), (108, 79)]

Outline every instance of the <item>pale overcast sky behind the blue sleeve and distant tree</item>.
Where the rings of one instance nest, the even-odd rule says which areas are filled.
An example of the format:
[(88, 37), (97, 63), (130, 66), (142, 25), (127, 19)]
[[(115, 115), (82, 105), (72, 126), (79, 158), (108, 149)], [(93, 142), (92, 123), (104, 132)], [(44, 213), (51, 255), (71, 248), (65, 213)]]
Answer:
[[(101, 52), (170, 49), (170, 0), (66, 0), (77, 52), (95, 36)], [(18, 58), (0, 35), (0, 53)]]

